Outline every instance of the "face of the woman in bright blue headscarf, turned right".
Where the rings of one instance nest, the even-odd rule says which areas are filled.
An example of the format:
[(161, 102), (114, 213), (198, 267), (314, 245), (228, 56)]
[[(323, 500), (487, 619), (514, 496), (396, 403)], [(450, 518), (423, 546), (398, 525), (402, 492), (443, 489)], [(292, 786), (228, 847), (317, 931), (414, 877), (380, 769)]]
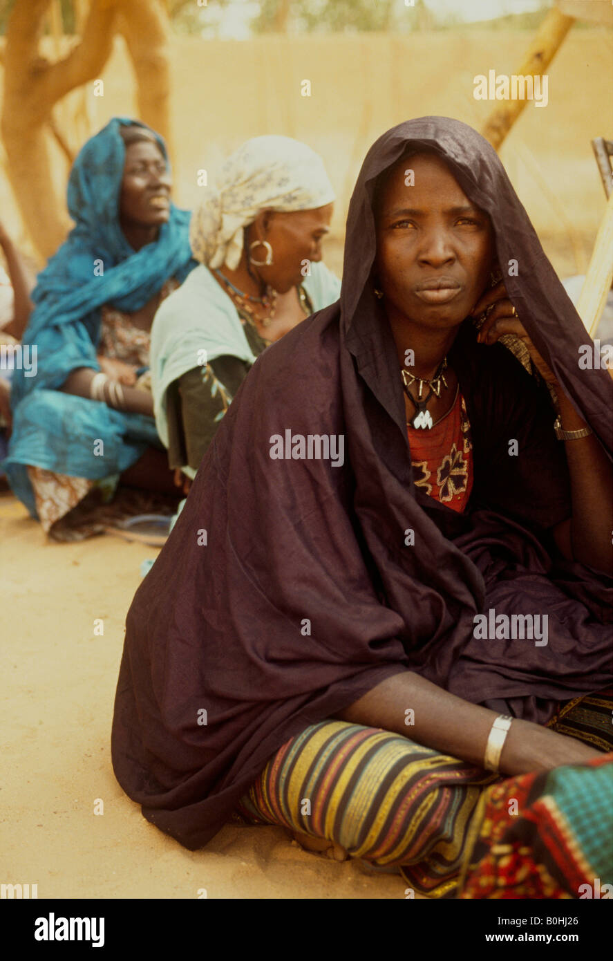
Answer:
[(170, 216), (172, 179), (159, 147), (138, 140), (126, 147), (119, 219), (123, 225), (155, 227)]

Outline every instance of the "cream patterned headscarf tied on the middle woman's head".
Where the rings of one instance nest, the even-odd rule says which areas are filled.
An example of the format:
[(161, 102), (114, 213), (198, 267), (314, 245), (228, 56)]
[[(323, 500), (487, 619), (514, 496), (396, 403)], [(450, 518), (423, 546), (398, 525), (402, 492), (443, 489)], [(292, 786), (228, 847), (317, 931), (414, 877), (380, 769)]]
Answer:
[(289, 136), (255, 136), (225, 161), (215, 188), (194, 210), (193, 255), (208, 267), (238, 266), (243, 228), (260, 210), (312, 210), (334, 200), (322, 159)]

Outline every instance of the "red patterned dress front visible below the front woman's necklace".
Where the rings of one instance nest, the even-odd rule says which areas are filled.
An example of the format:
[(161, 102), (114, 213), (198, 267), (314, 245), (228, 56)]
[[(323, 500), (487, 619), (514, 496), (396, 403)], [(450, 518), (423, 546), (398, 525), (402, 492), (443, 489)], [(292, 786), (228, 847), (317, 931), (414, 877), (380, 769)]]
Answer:
[(406, 426), (413, 479), (430, 497), (462, 513), (473, 489), (473, 445), (464, 398), (429, 430)]

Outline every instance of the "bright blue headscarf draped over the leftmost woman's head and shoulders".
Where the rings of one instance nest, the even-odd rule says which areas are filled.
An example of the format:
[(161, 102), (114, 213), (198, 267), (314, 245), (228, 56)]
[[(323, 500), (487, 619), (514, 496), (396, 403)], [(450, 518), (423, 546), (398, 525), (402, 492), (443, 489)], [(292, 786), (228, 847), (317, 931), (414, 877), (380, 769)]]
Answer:
[(157, 240), (137, 252), (126, 240), (119, 224), (126, 156), (122, 125), (155, 136), (169, 164), (162, 138), (127, 117), (113, 117), (87, 140), (68, 181), (68, 210), (75, 227), (38, 275), (35, 309), (23, 335), (24, 344), (37, 345), (37, 376), (14, 371), (12, 407), (33, 390), (61, 387), (77, 367), (99, 369), (96, 346), (104, 304), (137, 310), (169, 277), (183, 282), (196, 265), (189, 247), (190, 213), (174, 204)]

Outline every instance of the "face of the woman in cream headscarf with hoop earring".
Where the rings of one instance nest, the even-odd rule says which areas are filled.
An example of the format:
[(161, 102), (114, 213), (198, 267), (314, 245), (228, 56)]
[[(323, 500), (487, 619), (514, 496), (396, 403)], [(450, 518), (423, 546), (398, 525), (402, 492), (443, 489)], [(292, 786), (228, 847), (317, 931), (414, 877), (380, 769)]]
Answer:
[[(273, 263), (254, 268), (264, 283), (282, 294), (305, 280), (308, 264), (322, 259), (321, 244), (330, 232), (332, 209), (333, 205), (327, 204), (292, 213), (260, 211), (249, 230), (249, 243), (267, 240), (273, 249)], [(251, 254), (264, 260), (266, 248), (258, 244)]]

